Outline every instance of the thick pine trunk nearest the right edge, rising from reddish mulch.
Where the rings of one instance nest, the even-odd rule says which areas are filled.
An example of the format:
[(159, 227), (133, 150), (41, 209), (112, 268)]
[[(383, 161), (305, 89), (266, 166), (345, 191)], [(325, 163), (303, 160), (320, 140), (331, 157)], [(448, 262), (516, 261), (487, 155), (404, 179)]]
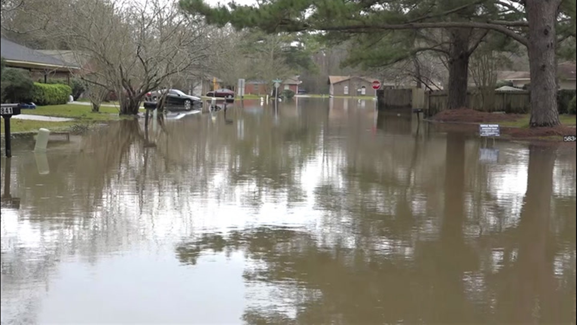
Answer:
[(531, 73), (531, 127), (559, 125), (557, 112), (557, 33), (555, 23), (560, 0), (526, 0), (529, 21), (529, 69)]

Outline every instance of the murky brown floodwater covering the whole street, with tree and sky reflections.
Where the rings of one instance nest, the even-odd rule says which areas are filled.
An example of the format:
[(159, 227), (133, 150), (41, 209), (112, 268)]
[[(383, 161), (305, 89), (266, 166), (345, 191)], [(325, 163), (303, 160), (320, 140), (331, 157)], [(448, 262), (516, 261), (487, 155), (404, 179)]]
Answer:
[(575, 323), (574, 149), (234, 105), (13, 141), (2, 324)]

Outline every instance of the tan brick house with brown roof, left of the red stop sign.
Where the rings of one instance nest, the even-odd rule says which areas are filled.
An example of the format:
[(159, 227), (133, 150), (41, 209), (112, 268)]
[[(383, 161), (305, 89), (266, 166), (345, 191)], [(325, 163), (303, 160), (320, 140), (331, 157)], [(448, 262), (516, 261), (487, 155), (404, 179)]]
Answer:
[[(361, 76), (328, 76), (329, 95), (331, 96), (376, 96), (373, 89), (373, 78)], [(381, 83), (381, 89), (395, 88), (394, 84)]]

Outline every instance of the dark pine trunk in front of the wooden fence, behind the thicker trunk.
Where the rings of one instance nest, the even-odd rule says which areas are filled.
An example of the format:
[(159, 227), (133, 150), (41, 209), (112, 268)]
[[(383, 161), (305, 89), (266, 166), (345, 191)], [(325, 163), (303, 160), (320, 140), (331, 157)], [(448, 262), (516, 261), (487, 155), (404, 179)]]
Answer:
[(467, 106), (467, 84), (469, 78), (470, 28), (452, 28), (449, 50), (448, 109)]

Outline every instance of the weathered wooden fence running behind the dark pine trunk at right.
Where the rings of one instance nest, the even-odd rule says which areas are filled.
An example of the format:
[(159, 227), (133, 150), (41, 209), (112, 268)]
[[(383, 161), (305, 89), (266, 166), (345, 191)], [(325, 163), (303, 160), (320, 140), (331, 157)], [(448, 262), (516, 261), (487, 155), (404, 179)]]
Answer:
[[(467, 93), (467, 108), (482, 112), (527, 113), (530, 109), (530, 92), (523, 91), (495, 91), (494, 105), (486, 107), (477, 91)], [(425, 94), (425, 109), (427, 116), (433, 116), (447, 109), (447, 91), (428, 91)]]

